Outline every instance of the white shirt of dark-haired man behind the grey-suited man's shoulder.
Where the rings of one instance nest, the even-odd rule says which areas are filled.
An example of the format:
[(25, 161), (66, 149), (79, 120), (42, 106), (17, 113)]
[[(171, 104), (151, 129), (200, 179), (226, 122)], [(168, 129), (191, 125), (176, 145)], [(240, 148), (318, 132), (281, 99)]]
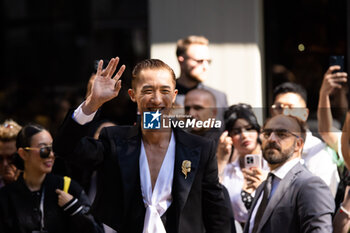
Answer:
[[(315, 176), (320, 177), (331, 190), (333, 197), (337, 192), (340, 181), (338, 168), (329, 153), (330, 148), (319, 138), (312, 135), (310, 131), (306, 134), (306, 140), (301, 155), (301, 163)], [(339, 151), (341, 149), (339, 148)]]

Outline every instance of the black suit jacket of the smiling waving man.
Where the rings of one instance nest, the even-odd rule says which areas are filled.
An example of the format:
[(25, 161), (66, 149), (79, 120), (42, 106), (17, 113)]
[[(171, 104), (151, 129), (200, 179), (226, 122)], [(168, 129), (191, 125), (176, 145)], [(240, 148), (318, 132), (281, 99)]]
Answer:
[[(104, 128), (99, 140), (84, 137), (88, 126), (79, 125), (68, 114), (54, 140), (57, 155), (89, 169), (98, 169), (93, 214), (118, 233), (142, 232), (143, 203), (138, 126)], [(215, 149), (211, 141), (174, 129), (176, 140), (173, 202), (166, 214), (167, 232), (230, 231), (229, 207), (218, 182)], [(185, 179), (182, 162), (191, 161)]]

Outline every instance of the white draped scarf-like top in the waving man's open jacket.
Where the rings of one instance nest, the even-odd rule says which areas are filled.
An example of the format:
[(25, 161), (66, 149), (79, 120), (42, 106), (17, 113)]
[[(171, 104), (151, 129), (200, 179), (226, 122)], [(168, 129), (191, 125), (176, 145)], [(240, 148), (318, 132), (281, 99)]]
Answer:
[(166, 233), (161, 216), (172, 202), (171, 189), (174, 177), (175, 138), (171, 133), (168, 150), (160, 168), (152, 193), (151, 175), (143, 141), (140, 154), (140, 180), (143, 202), (146, 207), (143, 233)]

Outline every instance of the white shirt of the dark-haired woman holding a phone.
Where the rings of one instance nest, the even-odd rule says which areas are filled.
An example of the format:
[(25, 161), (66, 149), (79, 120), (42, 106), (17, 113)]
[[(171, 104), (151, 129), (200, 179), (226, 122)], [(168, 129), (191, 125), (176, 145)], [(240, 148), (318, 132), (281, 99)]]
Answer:
[[(267, 162), (263, 159), (263, 170), (269, 171)], [(226, 187), (231, 201), (234, 218), (238, 222), (246, 222), (248, 220), (248, 210), (245, 207), (241, 191), (243, 187), (244, 177), (237, 158), (232, 163), (226, 165), (222, 173), (222, 184)]]

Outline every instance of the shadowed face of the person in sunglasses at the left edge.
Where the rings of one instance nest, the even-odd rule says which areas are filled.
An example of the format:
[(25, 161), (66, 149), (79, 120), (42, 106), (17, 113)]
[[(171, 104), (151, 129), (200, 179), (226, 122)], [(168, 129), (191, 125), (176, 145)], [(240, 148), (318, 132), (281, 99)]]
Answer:
[(11, 163), (16, 151), (16, 141), (0, 141), (0, 176), (5, 183), (11, 183), (16, 179), (17, 169)]

